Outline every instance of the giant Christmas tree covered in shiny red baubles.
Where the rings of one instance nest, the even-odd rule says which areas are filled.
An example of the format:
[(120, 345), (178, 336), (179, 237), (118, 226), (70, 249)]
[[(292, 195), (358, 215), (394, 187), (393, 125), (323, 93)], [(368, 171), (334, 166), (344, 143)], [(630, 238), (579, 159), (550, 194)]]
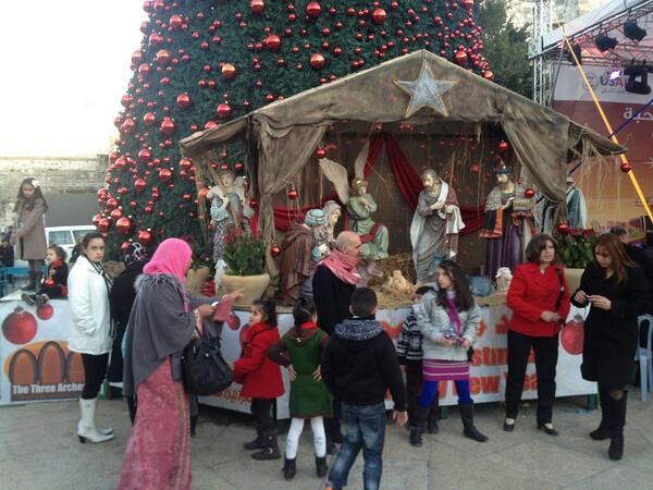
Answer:
[[(102, 211), (110, 254), (192, 236), (199, 228), (193, 162), (177, 142), (266, 103), (427, 49), (488, 78), (473, 0), (146, 0), (134, 75), (115, 118)], [(244, 172), (237, 148), (214, 163)], [(199, 196), (204, 198), (204, 196)]]

